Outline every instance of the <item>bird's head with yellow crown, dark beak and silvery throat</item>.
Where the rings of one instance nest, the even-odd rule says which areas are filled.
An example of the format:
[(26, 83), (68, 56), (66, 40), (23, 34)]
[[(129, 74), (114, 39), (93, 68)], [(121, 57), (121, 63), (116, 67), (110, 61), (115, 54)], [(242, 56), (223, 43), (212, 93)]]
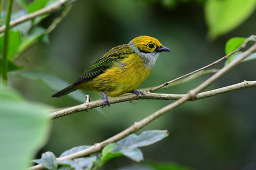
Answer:
[(163, 46), (157, 39), (150, 36), (139, 36), (129, 42), (130, 48), (144, 59), (145, 65), (151, 69), (160, 52), (171, 50)]

